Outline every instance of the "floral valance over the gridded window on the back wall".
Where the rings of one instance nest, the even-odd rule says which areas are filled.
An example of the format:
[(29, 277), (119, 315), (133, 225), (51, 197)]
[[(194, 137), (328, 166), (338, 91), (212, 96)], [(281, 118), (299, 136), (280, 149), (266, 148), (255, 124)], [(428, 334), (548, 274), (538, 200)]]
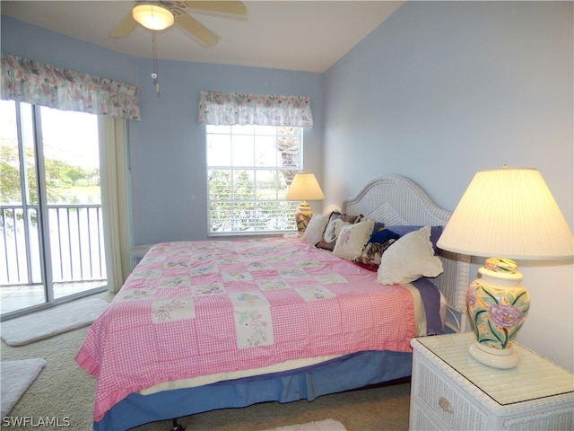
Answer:
[(201, 92), (199, 122), (216, 126), (255, 124), (313, 127), (307, 96), (268, 96), (239, 92)]

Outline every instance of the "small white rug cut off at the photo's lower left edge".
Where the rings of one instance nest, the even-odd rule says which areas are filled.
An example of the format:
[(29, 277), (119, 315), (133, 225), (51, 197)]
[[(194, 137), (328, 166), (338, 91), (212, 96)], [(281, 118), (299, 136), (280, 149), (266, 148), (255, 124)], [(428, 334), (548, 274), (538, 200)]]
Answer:
[(10, 413), (45, 365), (46, 361), (40, 358), (4, 361), (0, 364), (2, 418)]

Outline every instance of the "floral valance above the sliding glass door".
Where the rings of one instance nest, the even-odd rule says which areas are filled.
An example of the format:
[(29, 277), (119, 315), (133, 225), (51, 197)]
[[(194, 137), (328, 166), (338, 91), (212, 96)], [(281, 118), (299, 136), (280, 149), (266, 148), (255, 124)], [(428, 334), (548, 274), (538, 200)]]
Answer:
[(140, 119), (137, 87), (2, 54), (2, 99), (58, 110)]

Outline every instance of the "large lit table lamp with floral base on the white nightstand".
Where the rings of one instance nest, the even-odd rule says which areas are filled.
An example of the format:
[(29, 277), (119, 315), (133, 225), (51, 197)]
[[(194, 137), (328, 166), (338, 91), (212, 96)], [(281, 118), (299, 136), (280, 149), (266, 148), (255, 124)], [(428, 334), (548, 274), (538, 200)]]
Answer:
[(437, 242), (443, 250), (490, 258), (466, 295), (474, 359), (502, 369), (518, 363), (512, 344), (530, 299), (511, 259), (570, 259), (573, 244), (540, 172), (505, 166), (476, 173)]

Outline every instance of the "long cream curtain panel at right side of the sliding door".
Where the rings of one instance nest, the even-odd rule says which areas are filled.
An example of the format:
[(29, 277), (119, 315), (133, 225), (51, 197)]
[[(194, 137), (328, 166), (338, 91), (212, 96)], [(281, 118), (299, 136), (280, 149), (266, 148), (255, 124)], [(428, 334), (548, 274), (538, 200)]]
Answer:
[(117, 293), (131, 271), (126, 180), (126, 120), (100, 116), (98, 132), (108, 291)]

